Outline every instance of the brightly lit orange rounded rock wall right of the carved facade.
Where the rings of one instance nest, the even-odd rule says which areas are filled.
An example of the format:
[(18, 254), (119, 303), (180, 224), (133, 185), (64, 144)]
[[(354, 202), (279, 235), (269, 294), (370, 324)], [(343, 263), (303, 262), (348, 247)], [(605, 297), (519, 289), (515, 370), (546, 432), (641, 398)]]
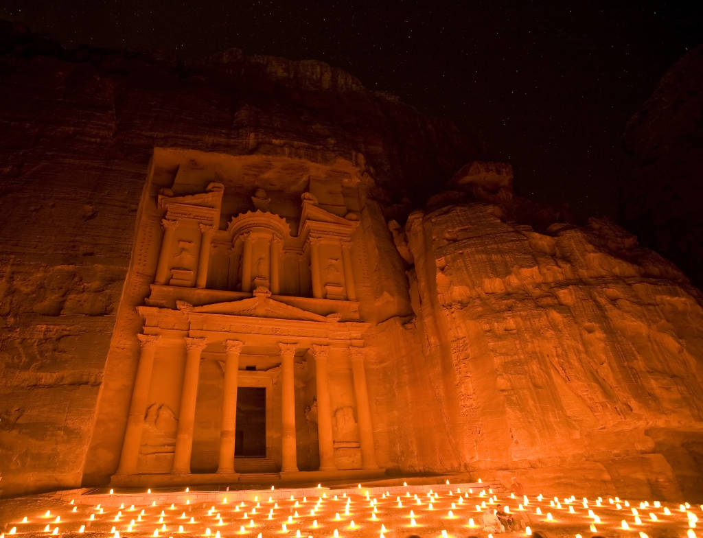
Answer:
[(408, 218), (423, 345), (398, 359), (427, 375), (415, 397), (437, 402), (446, 435), (415, 465), (518, 475), (531, 491), (699, 497), (700, 292), (611, 223), (536, 232), (504, 215), (474, 202)]

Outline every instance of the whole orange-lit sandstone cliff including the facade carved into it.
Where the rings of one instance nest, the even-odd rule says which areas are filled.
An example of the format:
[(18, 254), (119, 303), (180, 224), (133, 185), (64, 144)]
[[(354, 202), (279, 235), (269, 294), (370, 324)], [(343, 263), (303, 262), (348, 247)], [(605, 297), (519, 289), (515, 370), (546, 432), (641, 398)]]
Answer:
[(628, 232), (325, 64), (13, 49), (3, 494), (233, 480), (233, 385), (273, 417), (243, 473), (696, 491), (702, 299)]

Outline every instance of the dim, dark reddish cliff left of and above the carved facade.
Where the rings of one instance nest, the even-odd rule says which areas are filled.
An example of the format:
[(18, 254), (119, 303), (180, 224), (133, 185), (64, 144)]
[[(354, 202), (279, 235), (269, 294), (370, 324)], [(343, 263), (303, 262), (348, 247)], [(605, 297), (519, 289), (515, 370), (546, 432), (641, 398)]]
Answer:
[[(386, 252), (372, 253), (378, 275), (392, 273), (386, 263), (402, 275), (396, 261), (380, 257), (397, 255), (379, 208), (406, 211), (404, 197), (423, 198), (431, 171), (449, 178), (477, 152), (449, 122), (368, 91), (323, 63), (229, 51), (184, 66), (136, 53), (65, 51), (8, 23), (0, 24), (0, 52), (6, 496), (82, 481), (118, 305), (134, 292), (123, 285), (155, 147), (286, 157), (323, 168), (352, 163), (377, 185), (375, 206), (362, 220), (370, 234), (388, 236)], [(368, 311), (378, 299), (378, 311), (390, 317), (394, 305), (407, 304), (404, 289), (403, 298), (394, 296), (397, 289), (379, 282), (360, 293)], [(97, 459), (106, 457), (96, 450)], [(86, 483), (98, 478), (105, 474)]]

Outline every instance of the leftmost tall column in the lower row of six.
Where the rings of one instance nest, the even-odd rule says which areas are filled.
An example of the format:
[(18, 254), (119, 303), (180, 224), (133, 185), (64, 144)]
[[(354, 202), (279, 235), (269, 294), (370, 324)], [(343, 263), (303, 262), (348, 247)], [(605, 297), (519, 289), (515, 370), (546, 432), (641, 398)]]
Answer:
[(139, 364), (136, 369), (132, 398), (129, 404), (129, 415), (127, 416), (127, 428), (124, 431), (124, 441), (122, 442), (122, 454), (120, 454), (120, 466), (117, 468), (119, 475), (136, 474), (136, 464), (139, 458), (139, 446), (141, 445), (141, 427), (144, 424), (146, 407), (149, 398), (149, 388), (151, 386), (151, 372), (154, 367), (154, 355), (159, 336), (150, 334), (137, 334), (141, 354)]

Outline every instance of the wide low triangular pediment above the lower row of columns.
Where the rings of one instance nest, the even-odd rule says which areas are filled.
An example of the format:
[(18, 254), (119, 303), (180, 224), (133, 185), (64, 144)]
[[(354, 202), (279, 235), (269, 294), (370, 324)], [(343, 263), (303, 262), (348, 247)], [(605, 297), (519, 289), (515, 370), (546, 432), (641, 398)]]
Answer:
[(188, 308), (188, 312), (198, 314), (218, 314), (218, 315), (238, 315), (252, 317), (269, 317), (276, 320), (298, 320), (333, 323), (337, 317), (325, 317), (323, 315), (290, 306), (275, 299), (258, 296), (239, 301), (227, 301), (226, 303), (212, 303), (203, 306), (193, 306)]

